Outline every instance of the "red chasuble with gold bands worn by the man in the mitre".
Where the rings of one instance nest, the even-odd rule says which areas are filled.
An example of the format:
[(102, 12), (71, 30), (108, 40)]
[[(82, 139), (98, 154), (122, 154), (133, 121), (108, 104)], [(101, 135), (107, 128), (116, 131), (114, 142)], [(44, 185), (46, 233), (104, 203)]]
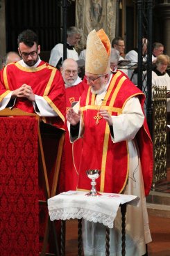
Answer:
[[(90, 169), (101, 170), (101, 176), (96, 180), (96, 190), (105, 193), (121, 193), (124, 190), (128, 179), (128, 142), (113, 143), (108, 123), (105, 119), (100, 119), (96, 124), (97, 119), (94, 117), (97, 117), (97, 112), (102, 106), (105, 106), (112, 116), (121, 114), (127, 100), (134, 96), (139, 98), (143, 109), (144, 94), (121, 71), (112, 77), (101, 106), (94, 105), (94, 94), (90, 89), (81, 96), (80, 107), (85, 130), (78, 190), (91, 189), (90, 179), (86, 175), (86, 170)], [(146, 120), (136, 137), (139, 142), (144, 187), (147, 195), (151, 189), (153, 177), (153, 148)]]

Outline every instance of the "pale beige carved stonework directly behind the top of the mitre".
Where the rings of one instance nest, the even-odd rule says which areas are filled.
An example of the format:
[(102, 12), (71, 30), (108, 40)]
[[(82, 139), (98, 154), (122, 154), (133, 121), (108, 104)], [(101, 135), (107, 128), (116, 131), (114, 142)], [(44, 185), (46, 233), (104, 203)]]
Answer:
[(116, 27), (116, 0), (77, 0), (76, 1), (76, 27), (82, 29), (85, 45), (87, 35), (93, 29), (103, 29), (112, 40)]

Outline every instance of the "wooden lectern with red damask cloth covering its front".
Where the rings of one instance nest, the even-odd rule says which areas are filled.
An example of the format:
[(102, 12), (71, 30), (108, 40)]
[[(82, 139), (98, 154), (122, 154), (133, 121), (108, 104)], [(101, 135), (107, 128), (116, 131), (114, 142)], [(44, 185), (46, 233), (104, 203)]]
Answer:
[(35, 114), (0, 112), (1, 256), (49, 250), (46, 199), (56, 195), (64, 142), (58, 130), (41, 124)]

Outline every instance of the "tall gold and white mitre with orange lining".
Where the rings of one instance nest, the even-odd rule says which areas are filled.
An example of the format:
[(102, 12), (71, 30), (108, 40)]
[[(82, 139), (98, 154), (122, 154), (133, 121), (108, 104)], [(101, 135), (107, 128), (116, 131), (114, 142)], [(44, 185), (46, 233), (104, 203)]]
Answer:
[(110, 71), (111, 44), (103, 29), (92, 30), (87, 36), (85, 72), (101, 75)]

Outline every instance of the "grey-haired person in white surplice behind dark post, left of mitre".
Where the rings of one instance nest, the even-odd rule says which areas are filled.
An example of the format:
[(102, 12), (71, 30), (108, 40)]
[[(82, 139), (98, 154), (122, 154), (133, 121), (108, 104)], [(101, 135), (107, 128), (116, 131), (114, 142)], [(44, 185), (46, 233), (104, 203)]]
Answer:
[[(67, 29), (67, 59), (78, 60), (78, 52), (74, 46), (78, 44), (81, 39), (81, 31), (76, 27), (69, 27)], [(63, 44), (58, 43), (53, 47), (50, 54), (49, 64), (51, 66), (60, 68), (63, 61)]]

